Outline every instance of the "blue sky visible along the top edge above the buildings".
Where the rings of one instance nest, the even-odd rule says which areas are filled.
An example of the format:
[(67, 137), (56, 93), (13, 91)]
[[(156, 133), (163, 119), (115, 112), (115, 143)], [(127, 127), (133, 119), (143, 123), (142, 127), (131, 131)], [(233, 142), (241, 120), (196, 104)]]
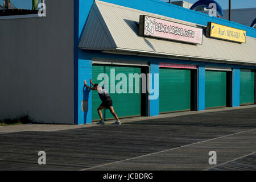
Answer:
[[(167, 2), (168, 0), (160, 0), (160, 1)], [(171, 0), (171, 1), (177, 1), (177, 0)], [(185, 1), (190, 3), (195, 3), (197, 0), (185, 0)], [(215, 1), (220, 4), (222, 9), (225, 10), (229, 8), (229, 0), (215, 0)], [(2, 0), (0, 0), (0, 2), (2, 5)], [(11, 2), (20, 9), (31, 9), (32, 7), (32, 0), (11, 0)], [(232, 0), (232, 9), (249, 8), (249, 7), (256, 7), (256, 0)]]

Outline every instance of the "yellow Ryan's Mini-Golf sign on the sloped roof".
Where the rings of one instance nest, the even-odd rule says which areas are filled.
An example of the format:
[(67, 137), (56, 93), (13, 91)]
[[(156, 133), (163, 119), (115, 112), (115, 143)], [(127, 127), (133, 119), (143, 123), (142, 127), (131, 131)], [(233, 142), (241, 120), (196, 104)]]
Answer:
[(208, 22), (207, 36), (209, 38), (230, 40), (232, 42), (246, 43), (246, 31)]

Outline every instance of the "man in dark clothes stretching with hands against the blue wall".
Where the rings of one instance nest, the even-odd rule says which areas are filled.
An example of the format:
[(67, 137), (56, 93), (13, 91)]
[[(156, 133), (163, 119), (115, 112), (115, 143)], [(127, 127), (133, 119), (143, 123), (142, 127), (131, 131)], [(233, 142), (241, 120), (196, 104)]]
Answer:
[(90, 90), (97, 90), (98, 95), (100, 96), (101, 101), (102, 101), (101, 105), (97, 109), (98, 110), (98, 115), (100, 115), (101, 121), (98, 122), (97, 124), (98, 125), (104, 125), (105, 124), (105, 122), (103, 120), (103, 117), (102, 117), (101, 110), (102, 109), (109, 109), (110, 113), (114, 116), (115, 119), (117, 119), (117, 121), (115, 123), (113, 123), (113, 125), (121, 125), (121, 122), (119, 121), (119, 119), (117, 117), (117, 114), (115, 114), (115, 112), (114, 112), (114, 108), (113, 108), (113, 105), (112, 105), (112, 99), (109, 96), (109, 93), (106, 92), (106, 90), (104, 89), (103, 86), (98, 86), (98, 84), (93, 84), (92, 79), (90, 79), (90, 84), (92, 84), (93, 87), (88, 86), (86, 84), (86, 80), (84, 80), (84, 86), (86, 86), (86, 88), (89, 88)]

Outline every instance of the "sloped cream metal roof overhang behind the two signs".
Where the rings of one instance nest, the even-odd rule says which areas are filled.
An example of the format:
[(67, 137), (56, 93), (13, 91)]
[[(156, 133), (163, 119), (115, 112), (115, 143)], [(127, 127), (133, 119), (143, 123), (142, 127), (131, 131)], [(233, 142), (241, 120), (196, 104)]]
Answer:
[(80, 49), (100, 50), (122, 55), (164, 57), (195, 61), (212, 61), (256, 65), (256, 39), (247, 36), (245, 44), (207, 38), (203, 44), (188, 44), (139, 36), (139, 15), (202, 27), (198, 24), (147, 13), (123, 6), (95, 1), (79, 44)]

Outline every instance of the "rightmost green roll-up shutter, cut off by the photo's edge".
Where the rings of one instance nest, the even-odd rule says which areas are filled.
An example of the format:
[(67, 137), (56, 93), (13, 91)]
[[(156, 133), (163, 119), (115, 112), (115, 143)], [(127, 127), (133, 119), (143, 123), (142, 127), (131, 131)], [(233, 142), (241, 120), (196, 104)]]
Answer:
[(240, 104), (254, 104), (255, 73), (250, 69), (240, 71)]

